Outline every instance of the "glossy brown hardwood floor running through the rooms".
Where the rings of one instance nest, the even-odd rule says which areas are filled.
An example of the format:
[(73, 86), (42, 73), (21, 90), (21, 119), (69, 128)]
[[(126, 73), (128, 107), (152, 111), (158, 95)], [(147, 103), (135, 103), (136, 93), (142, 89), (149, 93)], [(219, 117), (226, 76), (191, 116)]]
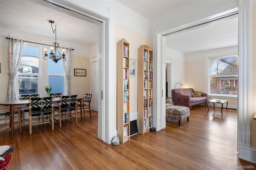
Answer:
[[(256, 164), (238, 159), (236, 152), (236, 110), (195, 106), (190, 108), (189, 122), (170, 121), (158, 132), (136, 134), (131, 140), (115, 146), (97, 138), (98, 113), (92, 119), (86, 113), (83, 122), (78, 114), (74, 119), (62, 121), (62, 128), (54, 122), (32, 127), (28, 122), (19, 132), (14, 124), (11, 137), (9, 124), (0, 125), (0, 145), (14, 144), (10, 170), (32, 169), (232, 169), (232, 165)], [(238, 168), (239, 169), (239, 168)], [(240, 168), (242, 169), (242, 168)]]

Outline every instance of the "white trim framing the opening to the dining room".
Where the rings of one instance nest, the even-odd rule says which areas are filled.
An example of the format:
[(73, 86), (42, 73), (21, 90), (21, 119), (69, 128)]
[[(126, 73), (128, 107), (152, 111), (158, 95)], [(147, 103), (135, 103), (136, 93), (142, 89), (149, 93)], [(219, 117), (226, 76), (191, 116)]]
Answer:
[(80, 6), (76, 6), (67, 1), (59, 1), (59, 0), (44, 0), (46, 2), (50, 2), (52, 4), (56, 4), (61, 6), (62, 8), (66, 8), (68, 10), (77, 12), (84, 16), (88, 16), (89, 22), (94, 22), (94, 24), (98, 24), (99, 26), (99, 41), (98, 41), (98, 55), (99, 55), (99, 110), (98, 110), (98, 138), (111, 143), (109, 138), (109, 49), (113, 48), (113, 45), (109, 43), (109, 18), (106, 18), (102, 15), (99, 15), (95, 12), (87, 10), (85, 8), (81, 8)]

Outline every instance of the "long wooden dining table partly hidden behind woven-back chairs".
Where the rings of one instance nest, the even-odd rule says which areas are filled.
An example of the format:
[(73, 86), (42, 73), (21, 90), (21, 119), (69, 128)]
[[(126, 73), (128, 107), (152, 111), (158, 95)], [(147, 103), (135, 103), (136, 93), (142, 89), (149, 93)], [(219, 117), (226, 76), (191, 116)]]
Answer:
[[(80, 106), (82, 106), (82, 99), (84, 99), (84, 96), (78, 96), (77, 101), (80, 102)], [(59, 103), (60, 97), (54, 97), (54, 103)], [(14, 109), (15, 108), (22, 108), (22, 107), (28, 107), (28, 99), (25, 100), (12, 100), (12, 101), (0, 101), (1, 106), (9, 106), (11, 109), (11, 130), (12, 130), (12, 136), (14, 132)], [(81, 114), (81, 121), (82, 121), (82, 109), (80, 109)]]

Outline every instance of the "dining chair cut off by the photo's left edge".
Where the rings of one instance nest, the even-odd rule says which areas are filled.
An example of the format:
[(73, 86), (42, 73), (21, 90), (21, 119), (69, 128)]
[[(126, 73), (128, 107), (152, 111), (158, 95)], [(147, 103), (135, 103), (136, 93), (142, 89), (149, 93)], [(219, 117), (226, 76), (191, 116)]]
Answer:
[[(6, 106), (0, 106), (0, 110), (4, 110), (6, 111), (6, 109), (10, 110), (10, 108), (6, 108)], [(1, 112), (0, 113), (0, 121), (5, 121), (5, 120), (9, 120), (9, 124), (10, 124), (10, 127), (12, 125), (12, 112), (11, 111), (8, 111), (8, 112)], [(19, 119), (19, 125), (20, 125), (20, 132), (22, 132), (22, 127), (21, 127), (21, 114), (20, 114), (20, 108), (18, 108), (18, 111), (14, 111), (14, 119), (15, 118), (18, 118)]]

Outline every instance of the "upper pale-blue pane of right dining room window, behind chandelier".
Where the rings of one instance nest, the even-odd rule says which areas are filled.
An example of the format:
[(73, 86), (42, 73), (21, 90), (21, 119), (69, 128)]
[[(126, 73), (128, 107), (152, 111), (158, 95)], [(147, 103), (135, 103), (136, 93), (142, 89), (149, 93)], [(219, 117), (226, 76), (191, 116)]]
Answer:
[[(48, 50), (48, 54), (50, 53), (50, 49)], [(58, 54), (60, 55), (60, 54)], [(47, 73), (48, 74), (60, 74), (60, 75), (64, 75), (64, 69), (62, 66), (62, 60), (59, 60), (57, 63), (55, 63), (54, 61), (52, 61), (52, 59), (47, 58)]]

